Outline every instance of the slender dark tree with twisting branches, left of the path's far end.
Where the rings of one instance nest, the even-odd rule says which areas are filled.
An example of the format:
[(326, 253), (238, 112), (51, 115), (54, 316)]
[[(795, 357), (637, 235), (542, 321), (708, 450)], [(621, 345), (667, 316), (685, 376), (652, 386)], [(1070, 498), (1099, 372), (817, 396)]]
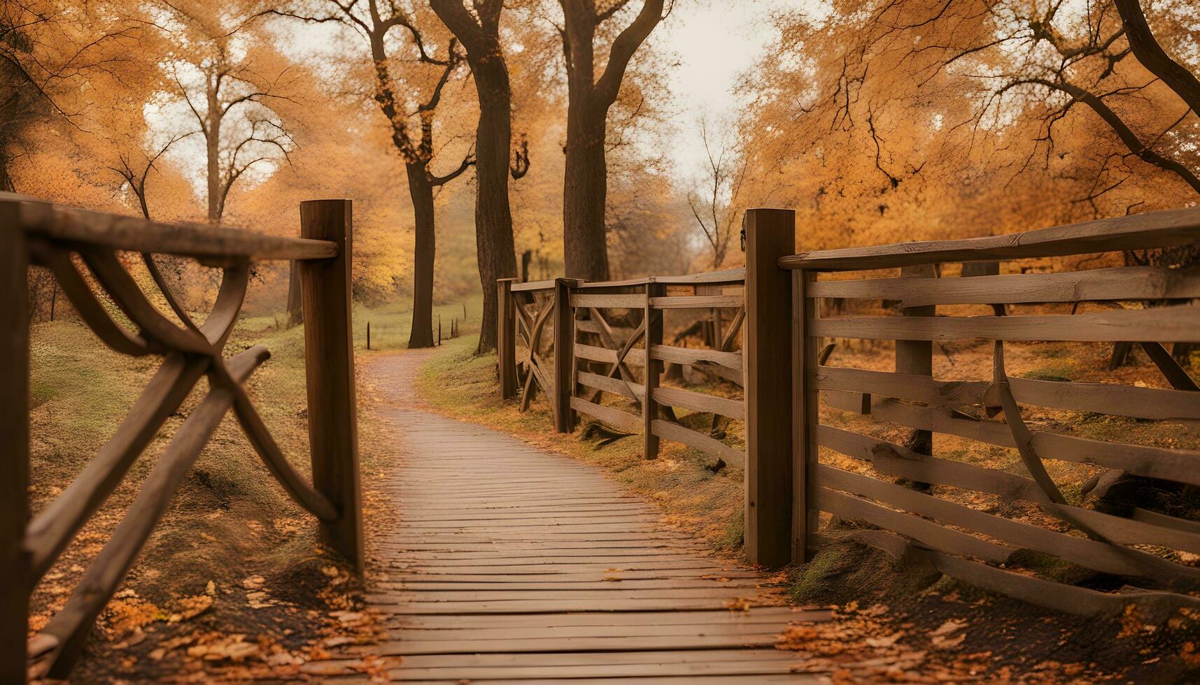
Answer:
[[(430, 23), (419, 23), (418, 13), (398, 4), (388, 2), (385, 7), (378, 0), (348, 0), (344, 4), (341, 0), (326, 0), (326, 4), (332, 5), (332, 10), (325, 16), (293, 10), (272, 13), (311, 23), (338, 22), (353, 29), (367, 43), (374, 72), (374, 101), (391, 127), (391, 143), (404, 162), (408, 192), (413, 200), (416, 240), (413, 254), (413, 325), (408, 347), (433, 347), (433, 264), (437, 250), (433, 192), (475, 164), (474, 152), (468, 151), (449, 173), (439, 175), (432, 170), (438, 104), (446, 84), (460, 71), (463, 56), (455, 38), (445, 41), (445, 58), (432, 54), (427, 48), (432, 44), (425, 35), (427, 29), (422, 29), (422, 24), (430, 26)], [(389, 37), (394, 29), (407, 31), (409, 40), (394, 42)], [(409, 68), (403, 78), (396, 78), (395, 62), (402, 58), (410, 60)], [(420, 70), (426, 73), (418, 73), (415, 67), (426, 67)], [(426, 80), (424, 88), (422, 77)], [(406, 107), (412, 107), (413, 110), (407, 112)], [(414, 125), (415, 131), (412, 130)]]

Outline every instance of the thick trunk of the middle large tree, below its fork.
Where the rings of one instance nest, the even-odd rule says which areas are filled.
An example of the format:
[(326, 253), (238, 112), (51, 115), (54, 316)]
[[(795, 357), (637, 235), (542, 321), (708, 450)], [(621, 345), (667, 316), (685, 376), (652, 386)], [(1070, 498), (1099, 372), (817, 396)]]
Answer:
[(470, 68), (480, 104), (475, 128), (475, 251), (484, 288), (484, 322), (475, 351), (482, 354), (496, 349), (496, 281), (517, 275), (509, 206), (512, 94), (503, 60), (472, 60)]

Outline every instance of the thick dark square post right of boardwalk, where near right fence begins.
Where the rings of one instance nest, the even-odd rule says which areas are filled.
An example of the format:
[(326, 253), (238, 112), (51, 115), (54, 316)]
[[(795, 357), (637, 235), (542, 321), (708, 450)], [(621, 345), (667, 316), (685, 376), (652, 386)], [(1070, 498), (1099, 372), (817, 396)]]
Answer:
[(751, 564), (792, 560), (792, 277), (778, 264), (796, 252), (796, 212), (745, 215), (745, 546)]

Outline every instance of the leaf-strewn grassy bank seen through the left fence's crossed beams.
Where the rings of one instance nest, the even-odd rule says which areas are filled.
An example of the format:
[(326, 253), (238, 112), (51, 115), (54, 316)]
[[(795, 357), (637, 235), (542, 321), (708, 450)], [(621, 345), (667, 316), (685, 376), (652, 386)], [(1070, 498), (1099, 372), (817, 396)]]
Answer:
[[(474, 319), (478, 325), (481, 302), (481, 298), (467, 301), (468, 323)], [(461, 318), (462, 308), (462, 304), (436, 308), (434, 320), (440, 313), (446, 335), (449, 320)], [(407, 307), (356, 306), (354, 316), (355, 354), (360, 357), (374, 354), (364, 349), (367, 320), (372, 322), (372, 348), (407, 344)], [(226, 355), (254, 344), (270, 349), (271, 357), (251, 377), (247, 389), (283, 452), (308, 477), (304, 328), (286, 329), (281, 322), (282, 317), (240, 319)], [(30, 493), (36, 512), (96, 455), (160, 361), (119, 355), (70, 317), (35, 324), (30, 353)], [(370, 529), (392, 517), (390, 503), (371, 487), (389, 468), (392, 453), (382, 422), (371, 409), (371, 379), (359, 374), (358, 386), (364, 509)], [(113, 495), (40, 583), (31, 600), (31, 630), (41, 629), (65, 606), (70, 591), (137, 495), (156, 456), (206, 387), (202, 380), (167, 420)], [(176, 648), (161, 660), (148, 655), (160, 644), (197, 633), (250, 632), (289, 650), (308, 649), (305, 645), (314, 645), (329, 621), (337, 624), (329, 612), (356, 601), (347, 584), (334, 587), (335, 577), (344, 578), (344, 573), (329, 575), (329, 569), (338, 565), (341, 560), (320, 545), (316, 519), (289, 499), (229, 414), (175, 493), (118, 597), (101, 614), (74, 677), (82, 681), (169, 678), (187, 668), (181, 663), (186, 650)], [(245, 583), (258, 576), (271, 603), (250, 608)], [(214, 597), (210, 608), (188, 620), (168, 620), (200, 595)]]

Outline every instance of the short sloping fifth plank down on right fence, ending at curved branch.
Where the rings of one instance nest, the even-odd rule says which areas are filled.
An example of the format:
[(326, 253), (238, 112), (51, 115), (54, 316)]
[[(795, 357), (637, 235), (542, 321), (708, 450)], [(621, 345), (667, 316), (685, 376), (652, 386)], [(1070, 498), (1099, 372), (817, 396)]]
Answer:
[(1034, 503), (1048, 501), (1045, 493), (1027, 477), (920, 455), (901, 445), (876, 440), (851, 431), (818, 426), (817, 443), (847, 457), (869, 462), (875, 470), (890, 476), (988, 492)]

